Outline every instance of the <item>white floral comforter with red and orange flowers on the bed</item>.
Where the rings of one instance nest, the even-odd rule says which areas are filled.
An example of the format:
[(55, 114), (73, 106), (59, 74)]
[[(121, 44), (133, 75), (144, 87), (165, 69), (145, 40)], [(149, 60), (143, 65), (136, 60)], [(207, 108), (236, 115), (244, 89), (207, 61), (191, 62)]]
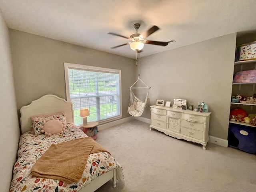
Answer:
[(74, 124), (68, 123), (67, 127), (60, 135), (35, 135), (31, 131), (20, 136), (10, 192), (78, 192), (96, 177), (114, 168), (117, 169), (117, 180), (123, 180), (122, 166), (106, 152), (89, 155), (82, 178), (77, 183), (66, 184), (60, 180), (32, 176), (30, 171), (33, 165), (51, 144), (87, 137)]

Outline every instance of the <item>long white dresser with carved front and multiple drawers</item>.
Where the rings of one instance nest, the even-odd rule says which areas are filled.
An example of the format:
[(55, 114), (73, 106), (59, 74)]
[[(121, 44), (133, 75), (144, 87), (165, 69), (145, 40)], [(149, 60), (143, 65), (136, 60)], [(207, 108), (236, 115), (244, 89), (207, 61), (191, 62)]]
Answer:
[(150, 130), (154, 128), (166, 135), (202, 144), (203, 149), (206, 150), (211, 112), (200, 113), (155, 105), (150, 107)]

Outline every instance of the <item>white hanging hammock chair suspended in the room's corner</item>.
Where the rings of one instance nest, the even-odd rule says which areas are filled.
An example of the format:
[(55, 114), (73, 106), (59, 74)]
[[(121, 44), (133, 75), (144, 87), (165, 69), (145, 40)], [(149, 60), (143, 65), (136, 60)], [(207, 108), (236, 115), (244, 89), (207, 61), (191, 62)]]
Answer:
[[(136, 51), (136, 56), (138, 55), (138, 51)], [(139, 58), (140, 58), (140, 54), (139, 54)], [(137, 65), (137, 61), (138, 59), (136, 58), (136, 65)], [(139, 62), (140, 64), (140, 62)], [(133, 87), (138, 81), (141, 81), (146, 87)], [(147, 100), (148, 100), (148, 92), (145, 98), (145, 101), (141, 101), (138, 97), (136, 97), (134, 95), (134, 93), (132, 92), (132, 89), (149, 89), (150, 87), (148, 87), (141, 79), (140, 79), (140, 65), (139, 65), (139, 76), (138, 76), (138, 80), (136, 80), (136, 82), (130, 87), (130, 104), (128, 107), (128, 112), (130, 115), (134, 116), (134, 117), (138, 117), (141, 116), (144, 109), (146, 108), (146, 104), (147, 104)]]

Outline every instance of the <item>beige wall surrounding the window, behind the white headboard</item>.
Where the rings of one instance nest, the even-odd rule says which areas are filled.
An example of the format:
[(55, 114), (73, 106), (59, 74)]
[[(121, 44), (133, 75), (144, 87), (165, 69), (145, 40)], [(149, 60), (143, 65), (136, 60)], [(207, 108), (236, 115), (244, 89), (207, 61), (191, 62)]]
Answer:
[(45, 94), (66, 99), (64, 62), (113, 68), (122, 73), (122, 115), (130, 101), (129, 87), (134, 83), (134, 59), (69, 44), (10, 29), (17, 108)]

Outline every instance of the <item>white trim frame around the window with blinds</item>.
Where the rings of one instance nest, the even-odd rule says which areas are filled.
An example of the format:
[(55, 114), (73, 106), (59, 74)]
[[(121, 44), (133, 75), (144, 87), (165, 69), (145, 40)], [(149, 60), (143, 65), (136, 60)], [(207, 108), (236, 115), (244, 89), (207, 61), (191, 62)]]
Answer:
[(96, 67), (96, 66), (88, 66), (88, 65), (82, 65), (82, 64), (72, 64), (72, 63), (66, 63), (64, 62), (64, 73), (65, 73), (65, 87), (66, 87), (66, 98), (68, 102), (71, 102), (70, 99), (70, 87), (69, 87), (69, 78), (68, 78), (68, 69), (72, 68), (72, 69), (76, 69), (76, 70), (94, 70), (94, 71), (98, 71), (98, 72), (114, 72), (116, 74), (119, 74), (119, 110), (120, 110), (120, 114), (118, 116), (114, 116), (114, 117), (110, 117), (110, 118), (106, 118), (103, 120), (98, 120), (99, 124), (103, 124), (103, 123), (107, 123), (107, 122), (111, 122), (114, 120), (118, 120), (122, 118), (122, 87), (121, 87), (121, 70), (118, 69), (110, 69), (110, 68), (102, 68), (102, 67)]

